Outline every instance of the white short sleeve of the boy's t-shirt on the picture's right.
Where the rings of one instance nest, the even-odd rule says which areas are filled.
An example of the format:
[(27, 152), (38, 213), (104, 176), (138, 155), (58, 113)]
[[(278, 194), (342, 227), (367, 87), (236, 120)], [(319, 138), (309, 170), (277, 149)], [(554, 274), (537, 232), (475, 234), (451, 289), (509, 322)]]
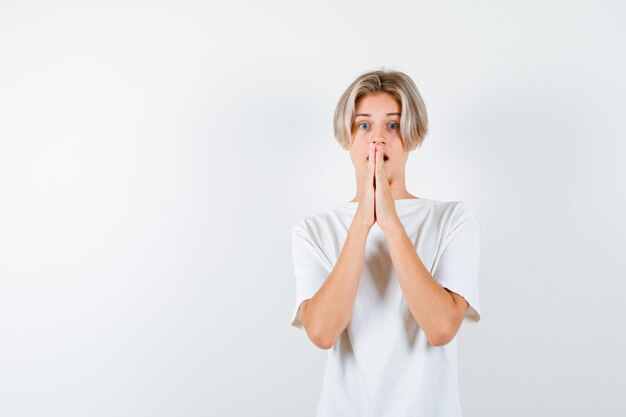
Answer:
[(446, 237), (433, 278), (444, 288), (461, 295), (469, 307), (464, 320), (480, 321), (478, 271), (480, 222), (475, 215), (460, 216)]

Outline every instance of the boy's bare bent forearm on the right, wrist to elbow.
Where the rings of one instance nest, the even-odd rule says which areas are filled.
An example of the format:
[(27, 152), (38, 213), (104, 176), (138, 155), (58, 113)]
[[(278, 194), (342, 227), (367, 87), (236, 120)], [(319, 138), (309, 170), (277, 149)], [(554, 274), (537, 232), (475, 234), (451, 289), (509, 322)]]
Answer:
[(385, 231), (389, 252), (409, 310), (428, 340), (445, 340), (452, 322), (454, 299), (430, 275), (401, 223)]

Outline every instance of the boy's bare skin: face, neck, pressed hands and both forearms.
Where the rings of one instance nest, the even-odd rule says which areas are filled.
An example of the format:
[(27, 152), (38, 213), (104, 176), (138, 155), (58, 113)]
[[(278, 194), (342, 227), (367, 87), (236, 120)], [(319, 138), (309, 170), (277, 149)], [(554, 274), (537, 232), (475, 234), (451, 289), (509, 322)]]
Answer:
[(356, 103), (348, 150), (357, 182), (352, 201), (359, 205), (333, 271), (315, 296), (301, 305), (304, 328), (322, 349), (334, 346), (349, 322), (374, 223), (387, 238), (409, 310), (432, 345), (445, 345), (455, 337), (469, 307), (462, 296), (430, 275), (396, 212), (394, 200), (418, 198), (405, 186), (409, 152), (400, 136), (400, 112), (400, 104), (387, 93), (369, 94)]

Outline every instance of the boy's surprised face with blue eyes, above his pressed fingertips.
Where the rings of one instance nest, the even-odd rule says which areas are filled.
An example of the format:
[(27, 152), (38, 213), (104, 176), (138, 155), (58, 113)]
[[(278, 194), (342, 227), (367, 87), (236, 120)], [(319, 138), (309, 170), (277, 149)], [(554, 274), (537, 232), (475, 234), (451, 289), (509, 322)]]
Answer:
[(383, 145), (385, 172), (389, 179), (404, 175), (409, 153), (400, 136), (400, 111), (400, 104), (388, 93), (368, 94), (357, 101), (350, 159), (358, 175), (367, 174), (370, 143)]

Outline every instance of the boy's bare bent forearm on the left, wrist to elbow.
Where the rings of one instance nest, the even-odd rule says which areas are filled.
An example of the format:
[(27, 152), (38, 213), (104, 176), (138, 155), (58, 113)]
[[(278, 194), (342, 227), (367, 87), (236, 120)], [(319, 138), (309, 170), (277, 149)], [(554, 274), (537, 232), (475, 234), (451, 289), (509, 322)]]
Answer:
[(332, 272), (317, 293), (302, 303), (302, 324), (311, 341), (321, 349), (330, 349), (350, 321), (368, 233), (366, 226), (350, 225)]

